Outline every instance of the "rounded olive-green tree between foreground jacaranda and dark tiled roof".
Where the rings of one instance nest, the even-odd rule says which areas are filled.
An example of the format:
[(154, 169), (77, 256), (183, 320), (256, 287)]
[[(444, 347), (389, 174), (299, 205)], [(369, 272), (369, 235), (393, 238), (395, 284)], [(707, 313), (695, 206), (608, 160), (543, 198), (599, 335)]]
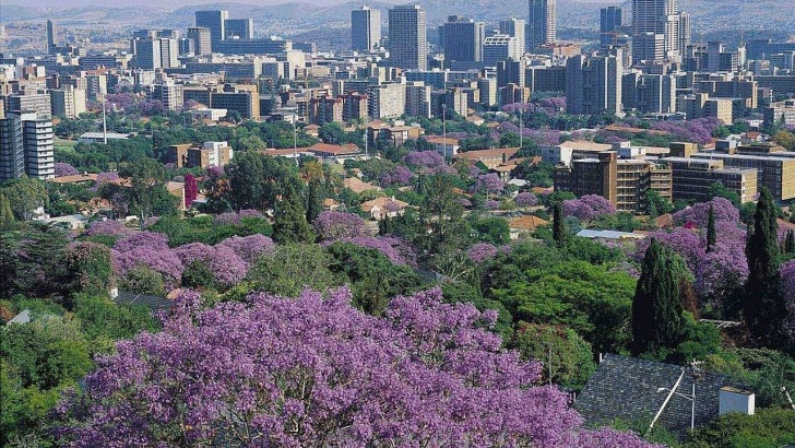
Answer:
[(565, 326), (520, 322), (510, 346), (524, 359), (544, 363), (544, 380), (566, 389), (582, 389), (596, 369), (591, 344)]

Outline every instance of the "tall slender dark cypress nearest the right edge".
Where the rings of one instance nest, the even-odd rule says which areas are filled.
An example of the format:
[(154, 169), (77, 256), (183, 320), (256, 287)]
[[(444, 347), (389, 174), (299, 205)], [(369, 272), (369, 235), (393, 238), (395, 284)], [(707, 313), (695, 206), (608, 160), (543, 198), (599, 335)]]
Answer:
[(779, 274), (779, 225), (773, 197), (762, 188), (754, 213), (754, 233), (746, 245), (748, 281), (743, 295), (743, 311), (748, 330), (758, 342), (776, 345), (786, 304)]

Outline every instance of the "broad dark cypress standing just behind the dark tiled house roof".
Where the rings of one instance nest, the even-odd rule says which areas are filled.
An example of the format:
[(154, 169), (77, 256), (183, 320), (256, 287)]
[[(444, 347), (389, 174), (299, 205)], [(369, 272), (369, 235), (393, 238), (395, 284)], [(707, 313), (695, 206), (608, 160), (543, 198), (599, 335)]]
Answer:
[(685, 264), (679, 256), (652, 239), (632, 298), (632, 355), (675, 347), (684, 335)]

